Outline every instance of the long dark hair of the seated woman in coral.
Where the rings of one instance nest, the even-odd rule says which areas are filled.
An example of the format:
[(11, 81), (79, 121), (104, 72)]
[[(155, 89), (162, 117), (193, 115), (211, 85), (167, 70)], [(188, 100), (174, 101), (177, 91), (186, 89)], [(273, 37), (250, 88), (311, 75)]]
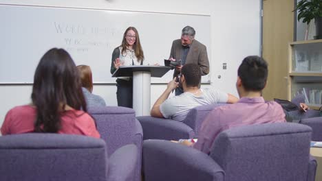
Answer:
[(87, 111), (78, 70), (67, 51), (53, 48), (43, 55), (31, 97), (37, 112), (35, 132), (58, 132), (66, 105)]

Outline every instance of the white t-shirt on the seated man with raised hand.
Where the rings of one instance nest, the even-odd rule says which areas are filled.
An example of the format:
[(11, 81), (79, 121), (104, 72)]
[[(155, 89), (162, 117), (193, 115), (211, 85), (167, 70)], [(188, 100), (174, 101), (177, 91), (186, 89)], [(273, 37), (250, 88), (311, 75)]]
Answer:
[(183, 121), (192, 108), (206, 104), (226, 103), (227, 100), (228, 94), (219, 90), (204, 89), (199, 96), (186, 92), (165, 100), (160, 105), (160, 112), (165, 118)]

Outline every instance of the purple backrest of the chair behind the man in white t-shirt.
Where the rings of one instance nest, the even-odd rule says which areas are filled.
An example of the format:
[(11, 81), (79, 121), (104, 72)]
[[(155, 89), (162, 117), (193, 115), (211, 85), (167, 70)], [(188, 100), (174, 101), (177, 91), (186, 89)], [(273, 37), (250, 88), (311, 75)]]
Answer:
[(206, 118), (209, 112), (218, 106), (223, 106), (226, 104), (208, 104), (203, 106), (197, 106), (189, 111), (184, 119), (183, 123), (189, 125), (195, 131), (195, 136), (197, 138), (202, 121)]

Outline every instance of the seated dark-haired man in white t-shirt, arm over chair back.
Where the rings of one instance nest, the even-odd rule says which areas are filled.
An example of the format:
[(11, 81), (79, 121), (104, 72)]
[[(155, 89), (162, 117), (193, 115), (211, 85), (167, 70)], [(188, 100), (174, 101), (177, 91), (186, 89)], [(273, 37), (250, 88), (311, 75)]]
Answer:
[[(238, 98), (223, 93), (219, 90), (203, 90), (198, 88), (201, 80), (200, 67), (197, 64), (184, 64), (179, 82), (175, 78), (169, 82), (167, 89), (159, 97), (151, 109), (152, 117), (164, 117), (183, 121), (189, 110), (197, 106), (215, 103), (235, 103)], [(182, 84), (184, 93), (175, 97), (169, 97), (172, 90)]]

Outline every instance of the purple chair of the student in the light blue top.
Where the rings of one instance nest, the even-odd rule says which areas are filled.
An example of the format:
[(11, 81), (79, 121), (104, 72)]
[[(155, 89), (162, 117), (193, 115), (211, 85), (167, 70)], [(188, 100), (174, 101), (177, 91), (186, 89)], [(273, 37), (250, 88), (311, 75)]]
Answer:
[(133, 180), (140, 180), (141, 156), (142, 156), (142, 127), (136, 120), (136, 113), (131, 108), (106, 106), (90, 108), (89, 114), (97, 123), (100, 137), (107, 144), (107, 154), (110, 156), (116, 149), (127, 144), (135, 144), (138, 147), (136, 171), (133, 172)]

